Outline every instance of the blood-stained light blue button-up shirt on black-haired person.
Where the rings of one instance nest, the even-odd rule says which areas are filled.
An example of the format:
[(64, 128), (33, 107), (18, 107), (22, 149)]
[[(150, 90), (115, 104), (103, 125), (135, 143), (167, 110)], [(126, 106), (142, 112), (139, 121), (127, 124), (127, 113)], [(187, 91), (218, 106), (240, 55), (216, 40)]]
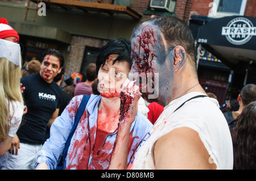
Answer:
[[(65, 142), (71, 132), (77, 109), (79, 108), (82, 95), (75, 96), (63, 113), (53, 122), (50, 131), (50, 138), (44, 143), (42, 151), (38, 156), (35, 167), (38, 163), (47, 163), (49, 169), (55, 169), (57, 159), (62, 153)], [(100, 103), (100, 95), (91, 95), (86, 105), (86, 111), (82, 115), (79, 125), (73, 134), (71, 145), (65, 159), (66, 169), (108, 169), (110, 156), (113, 150), (117, 131), (110, 133), (100, 149), (101, 153), (94, 153), (94, 145), (96, 142), (98, 104)], [(89, 116), (88, 116), (89, 115)], [(88, 125), (89, 120), (89, 125)], [(89, 126), (89, 127), (88, 127)], [(152, 128), (150, 121), (138, 111), (135, 121), (130, 129), (130, 146), (127, 157), (127, 164), (130, 162), (134, 151), (146, 134)], [(97, 150), (96, 150), (97, 151)]]

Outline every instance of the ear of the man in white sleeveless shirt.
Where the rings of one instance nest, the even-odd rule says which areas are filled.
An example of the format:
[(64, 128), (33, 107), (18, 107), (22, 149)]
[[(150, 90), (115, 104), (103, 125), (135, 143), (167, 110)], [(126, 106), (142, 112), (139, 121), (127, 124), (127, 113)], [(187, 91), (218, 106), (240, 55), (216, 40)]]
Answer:
[(185, 49), (181, 46), (177, 46), (174, 48), (174, 69), (175, 71), (179, 70), (181, 66), (185, 63)]

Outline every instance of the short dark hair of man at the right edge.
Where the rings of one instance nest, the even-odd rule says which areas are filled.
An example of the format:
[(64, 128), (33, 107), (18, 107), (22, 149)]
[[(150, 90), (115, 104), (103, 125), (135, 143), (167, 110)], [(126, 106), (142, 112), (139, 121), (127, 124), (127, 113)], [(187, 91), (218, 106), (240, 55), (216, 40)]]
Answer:
[(243, 105), (247, 105), (256, 101), (256, 85), (253, 83), (247, 84), (241, 90), (241, 98)]

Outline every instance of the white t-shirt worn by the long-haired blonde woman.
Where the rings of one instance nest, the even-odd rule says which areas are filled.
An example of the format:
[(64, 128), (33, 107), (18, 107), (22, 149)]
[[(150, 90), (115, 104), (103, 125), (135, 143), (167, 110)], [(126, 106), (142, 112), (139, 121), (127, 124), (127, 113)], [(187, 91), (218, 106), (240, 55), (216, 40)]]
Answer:
[(10, 103), (10, 130), (8, 135), (10, 137), (14, 137), (16, 132), (19, 129), (19, 125), (22, 121), (22, 115), (23, 115), (24, 106), (18, 101), (13, 101)]

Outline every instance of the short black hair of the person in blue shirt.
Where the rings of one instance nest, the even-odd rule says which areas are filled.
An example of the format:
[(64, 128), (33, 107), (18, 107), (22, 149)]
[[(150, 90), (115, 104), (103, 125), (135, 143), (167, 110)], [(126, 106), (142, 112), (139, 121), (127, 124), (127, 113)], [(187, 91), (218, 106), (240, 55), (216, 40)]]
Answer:
[(117, 61), (127, 61), (131, 69), (131, 65), (133, 64), (133, 60), (131, 59), (131, 43), (129, 40), (119, 38), (109, 41), (106, 45), (104, 45), (104, 47), (101, 48), (100, 54), (98, 54), (96, 59), (97, 75), (98, 70), (105, 65), (110, 54), (119, 54), (119, 56), (113, 61), (113, 64), (115, 64)]

